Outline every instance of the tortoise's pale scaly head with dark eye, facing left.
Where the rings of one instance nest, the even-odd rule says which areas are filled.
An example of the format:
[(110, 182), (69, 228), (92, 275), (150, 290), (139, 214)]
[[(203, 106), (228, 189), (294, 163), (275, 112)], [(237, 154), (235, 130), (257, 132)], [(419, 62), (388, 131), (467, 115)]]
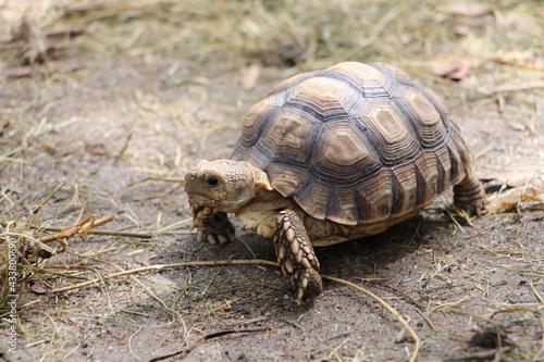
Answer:
[(262, 174), (245, 162), (202, 160), (185, 175), (185, 191), (197, 205), (236, 212), (251, 201), (258, 189), (272, 190), (268, 176), (261, 180)]

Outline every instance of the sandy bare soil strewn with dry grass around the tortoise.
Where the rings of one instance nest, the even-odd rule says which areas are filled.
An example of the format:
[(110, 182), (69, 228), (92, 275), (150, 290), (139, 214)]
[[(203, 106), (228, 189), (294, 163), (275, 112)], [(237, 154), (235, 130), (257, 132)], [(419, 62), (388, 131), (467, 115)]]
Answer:
[[(37, 30), (17, 40), (23, 13)], [(147, 265), (275, 261), (272, 242), (239, 223), (239, 241), (198, 244), (180, 180), (199, 159), (228, 158), (247, 109), (293, 74), (399, 65), (444, 97), (474, 173), (494, 179), (490, 198), (512, 184), (497, 175), (526, 190), (544, 175), (537, 0), (0, 1), (0, 224), (23, 224), (61, 184), (35, 235), (114, 215), (96, 228), (106, 235), (70, 238), (41, 262), (63, 275), (18, 285), (16, 353), (4, 314), (2, 361), (147, 361), (187, 348), (170, 360), (408, 361), (413, 340), (375, 300), (324, 280), (297, 305), (269, 265), (166, 267), (51, 292)], [(322, 274), (387, 301), (421, 339), (419, 361), (544, 361), (542, 201), (506, 202), (471, 225), (450, 201), (318, 249)], [(201, 340), (244, 329), (255, 332)]]

